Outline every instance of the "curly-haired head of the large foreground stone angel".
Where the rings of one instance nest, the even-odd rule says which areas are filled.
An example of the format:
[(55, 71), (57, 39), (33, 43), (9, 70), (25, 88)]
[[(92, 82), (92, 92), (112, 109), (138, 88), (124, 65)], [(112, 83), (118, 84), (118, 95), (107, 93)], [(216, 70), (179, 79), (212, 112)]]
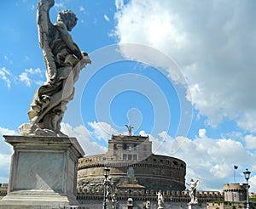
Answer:
[(78, 18), (73, 11), (65, 9), (59, 13), (57, 21), (63, 22), (67, 26), (67, 31), (72, 31), (73, 27), (77, 25)]

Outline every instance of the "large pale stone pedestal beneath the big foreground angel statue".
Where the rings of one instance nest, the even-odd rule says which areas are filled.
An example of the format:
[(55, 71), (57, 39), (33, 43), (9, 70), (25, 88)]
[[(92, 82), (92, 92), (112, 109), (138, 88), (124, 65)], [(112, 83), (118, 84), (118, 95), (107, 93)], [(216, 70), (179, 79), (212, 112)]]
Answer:
[(76, 201), (78, 159), (84, 155), (76, 138), (4, 136), (13, 145), (9, 189), (0, 209), (61, 208)]

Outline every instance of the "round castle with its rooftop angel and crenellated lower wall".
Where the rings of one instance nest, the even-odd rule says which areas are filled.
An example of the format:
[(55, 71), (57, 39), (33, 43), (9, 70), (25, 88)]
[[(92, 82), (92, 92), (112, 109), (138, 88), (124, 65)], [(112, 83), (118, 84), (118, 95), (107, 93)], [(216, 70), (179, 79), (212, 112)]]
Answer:
[[(79, 159), (77, 200), (82, 208), (101, 208), (106, 167), (109, 200), (116, 198), (119, 208), (147, 208), (143, 207), (146, 202), (156, 207), (159, 192), (166, 206), (172, 204), (173, 208), (186, 206), (190, 200), (185, 186), (186, 163), (172, 156), (155, 155), (149, 137), (132, 135), (130, 130), (127, 135), (112, 135), (105, 154)], [(207, 201), (223, 200), (218, 191), (197, 193), (202, 207)]]

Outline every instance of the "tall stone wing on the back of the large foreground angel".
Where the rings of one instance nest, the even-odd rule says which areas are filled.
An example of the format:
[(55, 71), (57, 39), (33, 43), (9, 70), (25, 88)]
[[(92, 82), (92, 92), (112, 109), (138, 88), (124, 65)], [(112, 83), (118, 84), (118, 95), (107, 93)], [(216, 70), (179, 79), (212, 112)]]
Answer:
[(56, 77), (55, 58), (51, 48), (49, 48), (49, 34), (54, 28), (49, 20), (49, 8), (53, 7), (54, 4), (55, 0), (39, 0), (37, 14), (39, 45), (44, 52), (48, 82), (55, 82)]

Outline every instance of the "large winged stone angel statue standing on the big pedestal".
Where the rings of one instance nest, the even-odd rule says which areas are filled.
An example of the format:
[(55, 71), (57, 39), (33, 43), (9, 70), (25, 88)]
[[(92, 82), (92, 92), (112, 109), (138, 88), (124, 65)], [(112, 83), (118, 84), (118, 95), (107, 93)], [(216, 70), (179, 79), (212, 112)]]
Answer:
[(80, 51), (68, 33), (77, 24), (76, 14), (63, 10), (52, 24), (49, 8), (54, 4), (54, 0), (39, 0), (38, 3), (38, 37), (47, 81), (34, 94), (28, 111), (30, 123), (20, 126), (21, 135), (64, 136), (61, 120), (67, 103), (73, 99), (73, 85), (81, 69), (90, 63), (88, 54)]

